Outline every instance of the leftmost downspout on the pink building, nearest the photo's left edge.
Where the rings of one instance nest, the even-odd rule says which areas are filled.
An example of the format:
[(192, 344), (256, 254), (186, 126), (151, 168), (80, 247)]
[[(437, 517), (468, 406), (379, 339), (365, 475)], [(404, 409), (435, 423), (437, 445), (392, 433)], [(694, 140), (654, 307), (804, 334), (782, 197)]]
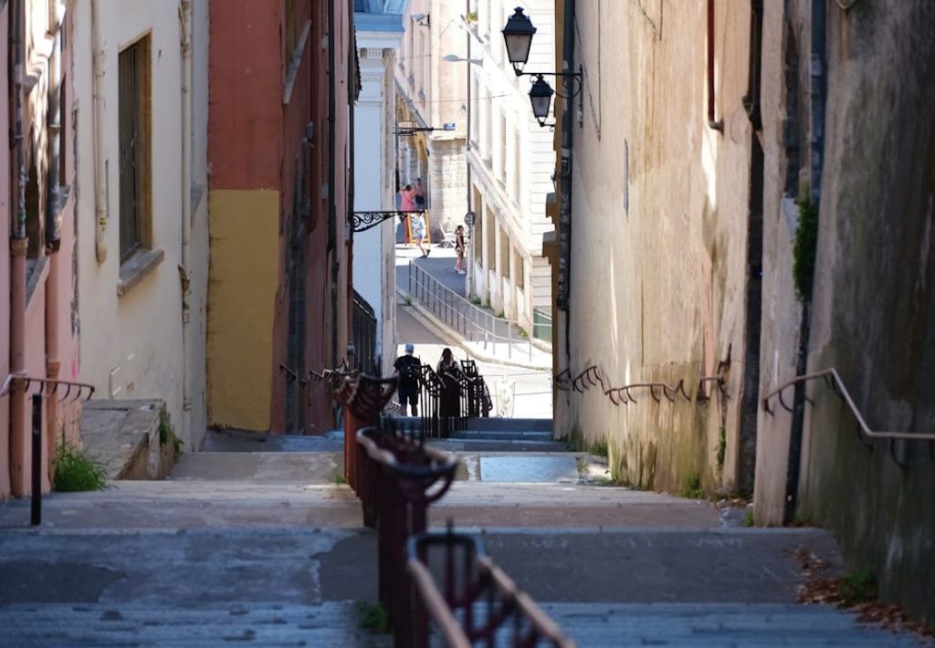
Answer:
[[(10, 61), (13, 64), (10, 79), (13, 84), (11, 96), (14, 98), (13, 141), (16, 147), (15, 178), (15, 213), (16, 221), (9, 241), (10, 296), (9, 296), (9, 365), (10, 373), (26, 373), (26, 250), (29, 239), (26, 238), (26, 156), (25, 142), (22, 136), (23, 87), (22, 59), (24, 44), (23, 5), (25, 0), (13, 0), (10, 7), (11, 38)], [(22, 383), (14, 383), (10, 393), (10, 486), (14, 496), (26, 494), (26, 394)]]

